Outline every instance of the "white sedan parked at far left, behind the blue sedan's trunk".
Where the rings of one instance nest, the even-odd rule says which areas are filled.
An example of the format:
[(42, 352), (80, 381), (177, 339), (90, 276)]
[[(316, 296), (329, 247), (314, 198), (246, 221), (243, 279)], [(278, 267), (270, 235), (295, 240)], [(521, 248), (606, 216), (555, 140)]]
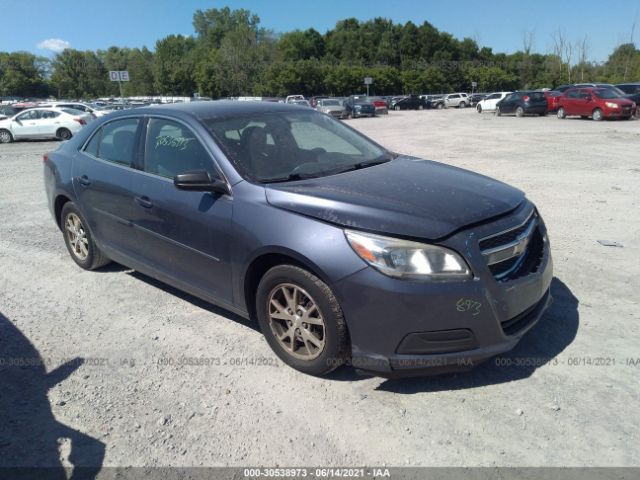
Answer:
[(57, 138), (69, 140), (92, 118), (70, 108), (37, 107), (0, 120), (0, 143)]

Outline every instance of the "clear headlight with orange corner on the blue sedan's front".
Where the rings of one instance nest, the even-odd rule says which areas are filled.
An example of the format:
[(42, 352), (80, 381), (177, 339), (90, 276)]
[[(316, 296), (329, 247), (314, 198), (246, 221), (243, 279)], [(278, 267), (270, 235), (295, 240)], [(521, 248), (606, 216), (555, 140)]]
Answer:
[(397, 278), (463, 279), (469, 267), (453, 250), (436, 245), (345, 230), (351, 248), (365, 262)]

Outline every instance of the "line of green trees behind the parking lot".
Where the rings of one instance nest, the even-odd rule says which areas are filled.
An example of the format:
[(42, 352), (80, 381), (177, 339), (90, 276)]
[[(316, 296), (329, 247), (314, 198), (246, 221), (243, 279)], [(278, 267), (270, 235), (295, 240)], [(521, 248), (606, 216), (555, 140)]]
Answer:
[(197, 10), (194, 34), (169, 35), (155, 49), (66, 49), (53, 59), (0, 52), (0, 96), (95, 98), (118, 96), (109, 70), (128, 70), (125, 96), (349, 95), (446, 93), (553, 87), (594, 81), (640, 80), (640, 50), (619, 45), (606, 62), (589, 60), (588, 37), (570, 42), (561, 31), (547, 54), (533, 53), (533, 33), (522, 48), (494, 53), (472, 38), (459, 40), (429, 22), (349, 18), (321, 34), (314, 29), (275, 34), (245, 9)]

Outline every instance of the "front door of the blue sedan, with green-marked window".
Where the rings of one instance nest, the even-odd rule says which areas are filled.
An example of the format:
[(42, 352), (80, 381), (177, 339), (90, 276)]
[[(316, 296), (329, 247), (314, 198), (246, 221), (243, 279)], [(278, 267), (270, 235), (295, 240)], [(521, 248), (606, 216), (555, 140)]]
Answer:
[(206, 170), (223, 179), (201, 139), (186, 124), (150, 118), (144, 158), (135, 173), (133, 224), (146, 265), (204, 296), (231, 302), (228, 195), (178, 190), (173, 178)]

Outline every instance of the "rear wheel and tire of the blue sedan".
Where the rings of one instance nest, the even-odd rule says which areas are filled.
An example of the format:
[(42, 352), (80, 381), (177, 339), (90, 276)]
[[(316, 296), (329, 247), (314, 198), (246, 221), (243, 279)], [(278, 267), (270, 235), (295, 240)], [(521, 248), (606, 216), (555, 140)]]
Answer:
[(62, 208), (60, 225), (69, 255), (79, 267), (95, 270), (110, 262), (96, 245), (87, 221), (74, 203), (67, 202)]

